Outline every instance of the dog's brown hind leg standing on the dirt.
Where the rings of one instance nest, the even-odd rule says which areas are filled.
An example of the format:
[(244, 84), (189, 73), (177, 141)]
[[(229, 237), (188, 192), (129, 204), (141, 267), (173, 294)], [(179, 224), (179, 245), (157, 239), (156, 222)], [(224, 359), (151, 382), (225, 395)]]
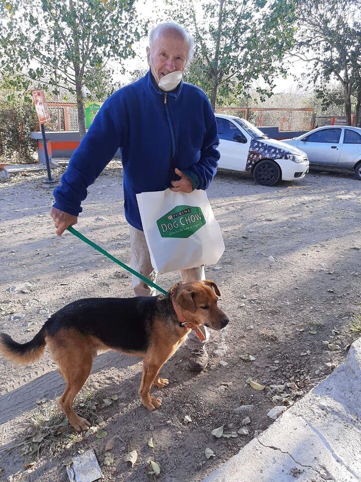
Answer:
[(72, 364), (71, 359), (60, 367), (60, 371), (66, 381), (66, 388), (63, 395), (59, 398), (59, 403), (70, 425), (77, 431), (88, 430), (90, 423), (85, 418), (79, 417), (74, 411), (73, 402), (76, 395), (80, 392), (87, 378), (93, 363), (93, 357), (90, 353), (84, 354), (82, 359), (77, 360), (79, 364)]

